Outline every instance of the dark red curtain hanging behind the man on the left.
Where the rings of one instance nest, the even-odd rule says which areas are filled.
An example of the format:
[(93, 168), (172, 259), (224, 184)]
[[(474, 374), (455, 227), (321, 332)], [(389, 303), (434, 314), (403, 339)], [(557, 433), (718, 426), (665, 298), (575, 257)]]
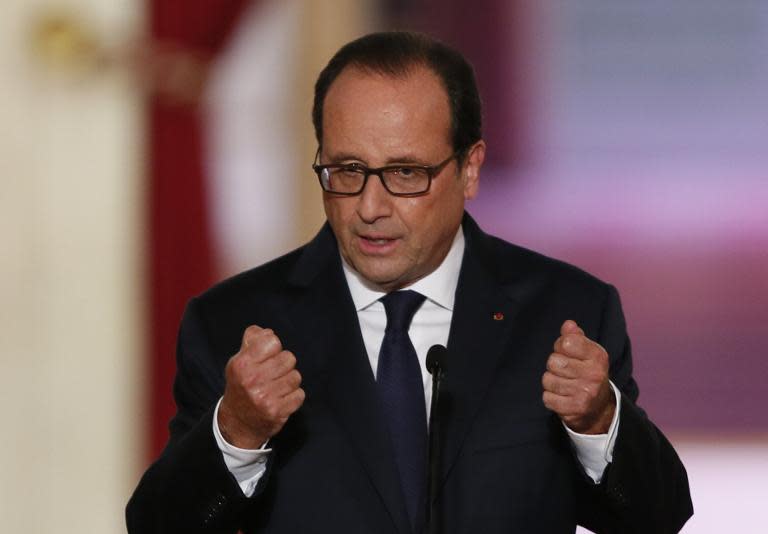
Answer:
[(251, 0), (150, 0), (148, 366), (149, 455), (175, 412), (175, 343), (186, 301), (216, 277), (208, 224), (203, 115), (207, 65), (225, 47)]

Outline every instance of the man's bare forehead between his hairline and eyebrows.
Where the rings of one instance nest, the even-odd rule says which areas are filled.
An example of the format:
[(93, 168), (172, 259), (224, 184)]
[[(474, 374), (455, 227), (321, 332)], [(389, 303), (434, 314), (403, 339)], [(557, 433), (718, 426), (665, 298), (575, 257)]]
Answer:
[(450, 104), (440, 78), (414, 66), (402, 75), (345, 68), (323, 105), (323, 146), (337, 143), (402, 149), (450, 145)]

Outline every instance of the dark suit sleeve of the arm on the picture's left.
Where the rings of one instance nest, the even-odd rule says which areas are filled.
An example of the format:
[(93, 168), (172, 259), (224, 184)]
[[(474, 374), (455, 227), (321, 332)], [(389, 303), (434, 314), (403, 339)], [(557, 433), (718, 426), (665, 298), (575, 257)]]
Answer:
[(179, 332), (170, 440), (128, 503), (129, 532), (234, 532), (248, 503), (258, 498), (258, 490), (251, 499), (243, 495), (213, 435), (228, 356), (211, 353), (197, 302), (191, 301)]

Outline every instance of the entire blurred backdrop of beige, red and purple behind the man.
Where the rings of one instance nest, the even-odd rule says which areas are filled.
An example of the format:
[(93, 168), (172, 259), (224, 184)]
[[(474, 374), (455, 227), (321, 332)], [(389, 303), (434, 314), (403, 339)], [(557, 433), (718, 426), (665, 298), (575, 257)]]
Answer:
[(481, 225), (619, 288), (684, 532), (764, 532), (764, 0), (3, 0), (0, 531), (125, 530), (184, 303), (317, 231), (312, 84), (393, 28), (476, 67)]

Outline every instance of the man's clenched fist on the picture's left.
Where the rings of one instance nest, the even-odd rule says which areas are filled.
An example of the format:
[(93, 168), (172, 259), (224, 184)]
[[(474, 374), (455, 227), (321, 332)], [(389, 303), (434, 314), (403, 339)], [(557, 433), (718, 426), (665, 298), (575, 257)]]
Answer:
[(260, 448), (304, 402), (296, 356), (283, 350), (269, 328), (245, 329), (240, 351), (230, 358), (224, 375), (218, 424), (235, 447)]

